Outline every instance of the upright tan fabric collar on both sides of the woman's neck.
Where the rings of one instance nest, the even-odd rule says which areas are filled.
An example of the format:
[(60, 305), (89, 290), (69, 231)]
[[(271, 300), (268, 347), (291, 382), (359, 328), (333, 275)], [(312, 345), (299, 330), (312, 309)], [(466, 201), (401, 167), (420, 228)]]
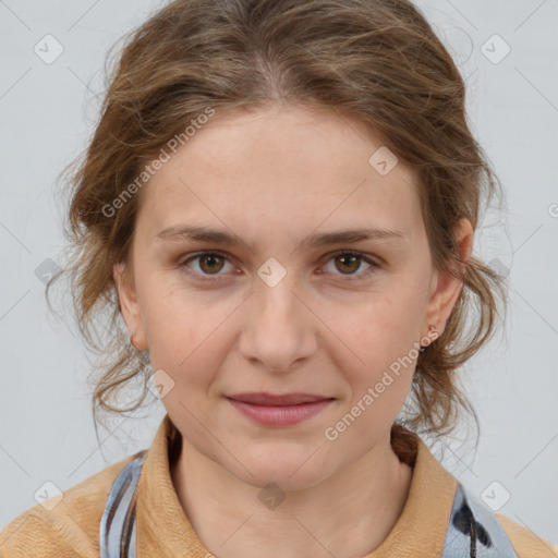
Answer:
[[(180, 433), (167, 414), (147, 451), (137, 486), (137, 558), (211, 556), (197, 538), (172, 484), (177, 436)], [(413, 436), (416, 458), (403, 511), (384, 543), (364, 558), (441, 556), (458, 481)]]

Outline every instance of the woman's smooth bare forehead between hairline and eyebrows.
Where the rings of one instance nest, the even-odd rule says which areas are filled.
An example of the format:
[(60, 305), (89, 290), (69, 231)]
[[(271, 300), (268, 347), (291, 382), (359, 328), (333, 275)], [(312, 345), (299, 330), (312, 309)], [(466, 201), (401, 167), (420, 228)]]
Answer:
[(420, 226), (412, 170), (363, 122), (333, 110), (217, 113), (170, 155), (144, 186), (138, 219), (149, 236), (193, 219), (248, 235)]

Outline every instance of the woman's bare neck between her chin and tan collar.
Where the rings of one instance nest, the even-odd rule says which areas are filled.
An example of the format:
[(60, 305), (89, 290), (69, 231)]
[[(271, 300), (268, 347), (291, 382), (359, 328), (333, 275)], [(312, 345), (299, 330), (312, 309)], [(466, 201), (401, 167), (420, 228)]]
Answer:
[(258, 498), (260, 487), (240, 481), (184, 438), (171, 465), (177, 495), (194, 532), (210, 553), (226, 558), (256, 558), (271, 549), (278, 558), (364, 556), (397, 523), (412, 471), (399, 461), (387, 436), (336, 475), (291, 490), (268, 509)]

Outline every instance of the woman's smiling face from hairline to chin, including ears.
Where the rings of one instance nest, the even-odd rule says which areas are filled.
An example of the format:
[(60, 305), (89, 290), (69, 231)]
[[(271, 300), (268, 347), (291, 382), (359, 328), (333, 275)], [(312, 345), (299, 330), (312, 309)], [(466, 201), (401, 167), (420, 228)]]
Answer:
[[(381, 146), (327, 110), (217, 114), (142, 192), (131, 281), (114, 268), (124, 319), (184, 444), (253, 486), (312, 486), (388, 451), (420, 343), (459, 295), (434, 271), (412, 170), (369, 162)], [(356, 230), (369, 238), (335, 238)], [(322, 402), (230, 399), (263, 392)]]

